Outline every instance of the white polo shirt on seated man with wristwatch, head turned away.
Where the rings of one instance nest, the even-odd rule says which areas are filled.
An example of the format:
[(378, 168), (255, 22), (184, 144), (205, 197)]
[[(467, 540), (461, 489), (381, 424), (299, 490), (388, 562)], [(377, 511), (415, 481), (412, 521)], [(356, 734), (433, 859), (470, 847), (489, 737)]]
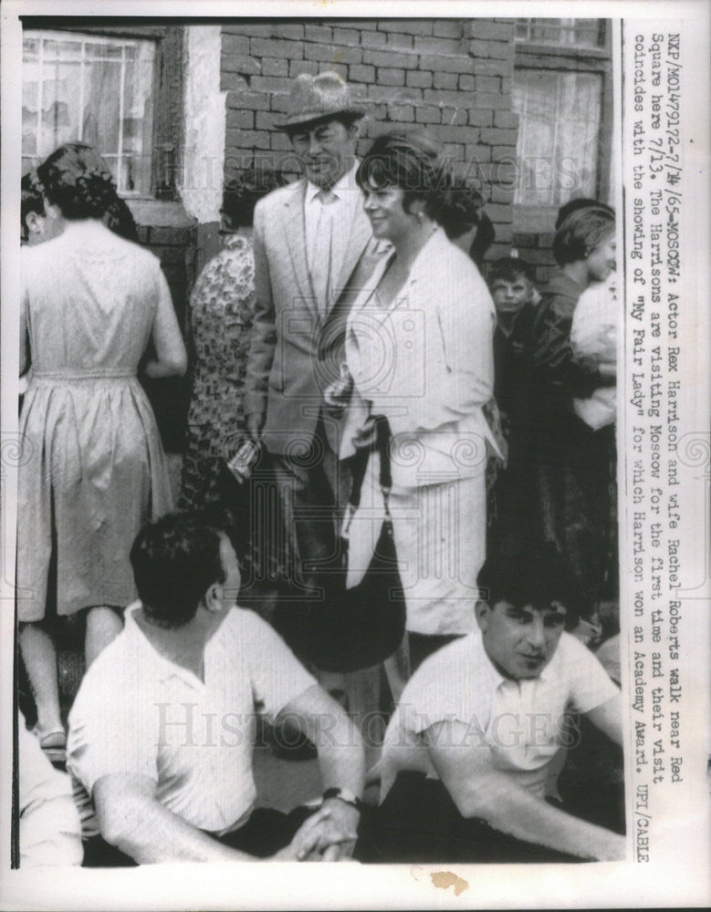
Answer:
[(68, 769), (88, 793), (140, 773), (158, 800), (201, 830), (246, 823), (256, 799), (255, 714), (274, 720), (316, 680), (253, 611), (233, 608), (204, 649), (204, 682), (163, 658), (133, 615), (89, 668), (69, 713)]

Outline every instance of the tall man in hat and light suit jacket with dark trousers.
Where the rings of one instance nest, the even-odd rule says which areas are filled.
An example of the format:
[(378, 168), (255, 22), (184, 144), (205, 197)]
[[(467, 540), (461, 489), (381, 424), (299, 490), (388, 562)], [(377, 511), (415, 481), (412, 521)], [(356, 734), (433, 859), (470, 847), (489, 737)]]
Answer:
[[(323, 394), (338, 378), (350, 305), (381, 252), (355, 181), (362, 116), (338, 73), (298, 76), (283, 130), (303, 174), (255, 209), (246, 425), (271, 457), (286, 529), (281, 573), (286, 565), (292, 594), (307, 600), (319, 597), (319, 568), (334, 558), (349, 483), (337, 458), (339, 423)], [(280, 530), (259, 522), (273, 545)], [(308, 657), (308, 644), (293, 645)]]

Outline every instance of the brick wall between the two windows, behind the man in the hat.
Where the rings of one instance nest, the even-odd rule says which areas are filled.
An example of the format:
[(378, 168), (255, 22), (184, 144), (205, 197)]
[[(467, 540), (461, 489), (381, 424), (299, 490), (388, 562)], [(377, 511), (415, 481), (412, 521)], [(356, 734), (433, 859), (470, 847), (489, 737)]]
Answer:
[(518, 117), (511, 109), (512, 19), (340, 19), (223, 26), (225, 179), (253, 157), (288, 153), (286, 98), (298, 73), (337, 70), (368, 117), (359, 153), (387, 125), (422, 124), (455, 167), (479, 182), (497, 231), (512, 241)]

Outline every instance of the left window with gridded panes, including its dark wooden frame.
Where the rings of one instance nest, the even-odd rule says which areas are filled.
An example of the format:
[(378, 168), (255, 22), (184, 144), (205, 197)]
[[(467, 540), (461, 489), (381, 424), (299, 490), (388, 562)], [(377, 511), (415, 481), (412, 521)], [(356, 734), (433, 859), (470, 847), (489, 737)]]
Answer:
[(57, 22), (24, 23), (23, 171), (82, 141), (106, 160), (121, 196), (175, 200), (183, 27)]

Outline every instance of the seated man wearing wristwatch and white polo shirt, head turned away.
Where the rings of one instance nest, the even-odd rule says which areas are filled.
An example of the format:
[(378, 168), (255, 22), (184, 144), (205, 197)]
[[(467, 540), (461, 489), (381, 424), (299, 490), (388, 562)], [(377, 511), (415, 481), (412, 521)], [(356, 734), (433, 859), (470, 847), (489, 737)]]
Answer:
[[(68, 768), (101, 834), (85, 864), (349, 857), (360, 734), (272, 628), (235, 606), (239, 568), (220, 525), (177, 513), (149, 523), (131, 565), (141, 600), (69, 714)], [(315, 813), (255, 810), (256, 713), (288, 717), (317, 745)]]

